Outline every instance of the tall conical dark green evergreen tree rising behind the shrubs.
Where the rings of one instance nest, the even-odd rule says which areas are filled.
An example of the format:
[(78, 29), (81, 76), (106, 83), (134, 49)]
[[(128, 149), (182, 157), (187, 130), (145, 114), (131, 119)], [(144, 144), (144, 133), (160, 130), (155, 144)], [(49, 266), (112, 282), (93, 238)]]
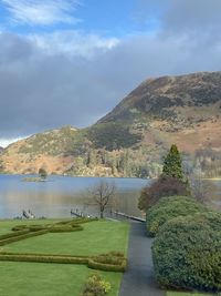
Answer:
[(177, 145), (171, 145), (168, 155), (165, 159), (162, 176), (176, 177), (183, 180), (182, 160)]

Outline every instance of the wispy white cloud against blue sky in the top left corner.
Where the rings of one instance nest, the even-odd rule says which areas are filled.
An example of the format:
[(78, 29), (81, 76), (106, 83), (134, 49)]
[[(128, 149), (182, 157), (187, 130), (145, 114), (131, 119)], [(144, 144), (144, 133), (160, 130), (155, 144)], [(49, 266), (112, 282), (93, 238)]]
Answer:
[(57, 22), (76, 23), (73, 12), (78, 0), (2, 0), (11, 13), (11, 21), (20, 24), (50, 25)]

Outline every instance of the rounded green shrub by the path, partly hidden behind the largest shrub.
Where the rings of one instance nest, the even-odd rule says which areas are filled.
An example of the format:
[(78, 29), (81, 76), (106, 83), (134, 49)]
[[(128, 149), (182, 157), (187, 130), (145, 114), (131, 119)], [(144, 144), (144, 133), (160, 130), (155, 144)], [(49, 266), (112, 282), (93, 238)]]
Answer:
[(147, 211), (147, 233), (149, 236), (155, 236), (160, 226), (167, 221), (178, 216), (187, 216), (206, 211), (207, 207), (192, 197), (162, 197), (156, 205)]

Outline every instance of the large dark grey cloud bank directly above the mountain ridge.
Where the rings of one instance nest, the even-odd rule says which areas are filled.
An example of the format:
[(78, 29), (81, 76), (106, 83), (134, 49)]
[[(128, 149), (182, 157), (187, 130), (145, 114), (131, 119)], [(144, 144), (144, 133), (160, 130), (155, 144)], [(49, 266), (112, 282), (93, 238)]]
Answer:
[(0, 137), (11, 137), (92, 124), (149, 76), (221, 70), (221, 42), (144, 34), (85, 60), (1, 34), (0, 57)]

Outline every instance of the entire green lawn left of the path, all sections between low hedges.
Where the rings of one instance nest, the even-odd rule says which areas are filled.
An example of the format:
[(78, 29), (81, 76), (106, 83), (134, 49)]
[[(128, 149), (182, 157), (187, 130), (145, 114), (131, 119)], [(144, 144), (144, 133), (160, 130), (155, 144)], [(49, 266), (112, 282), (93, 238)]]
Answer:
[[(0, 234), (19, 224), (45, 224), (57, 221), (0, 221)], [(127, 254), (129, 224), (95, 221), (82, 224), (84, 229), (72, 233), (49, 233), (1, 246), (18, 253), (96, 255), (119, 251)], [(80, 296), (88, 275), (98, 273), (112, 285), (108, 296), (117, 296), (120, 273), (101, 272), (84, 265), (0, 262), (2, 296)]]

